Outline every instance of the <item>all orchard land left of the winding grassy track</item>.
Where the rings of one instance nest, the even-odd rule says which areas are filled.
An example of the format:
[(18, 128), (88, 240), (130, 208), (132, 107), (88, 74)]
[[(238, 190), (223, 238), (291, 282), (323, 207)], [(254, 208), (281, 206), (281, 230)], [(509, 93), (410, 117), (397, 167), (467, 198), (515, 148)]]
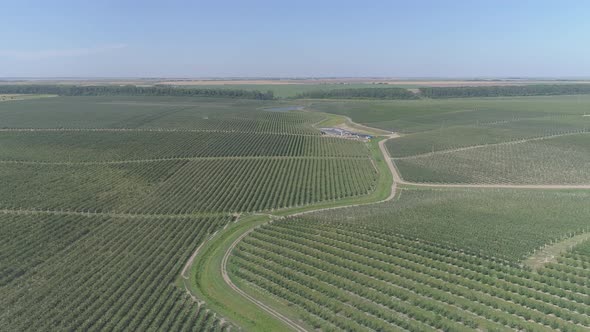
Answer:
[(0, 104), (0, 330), (233, 329), (180, 276), (195, 250), (240, 214), (364, 197), (382, 177), (369, 144), (265, 110), (282, 105)]

